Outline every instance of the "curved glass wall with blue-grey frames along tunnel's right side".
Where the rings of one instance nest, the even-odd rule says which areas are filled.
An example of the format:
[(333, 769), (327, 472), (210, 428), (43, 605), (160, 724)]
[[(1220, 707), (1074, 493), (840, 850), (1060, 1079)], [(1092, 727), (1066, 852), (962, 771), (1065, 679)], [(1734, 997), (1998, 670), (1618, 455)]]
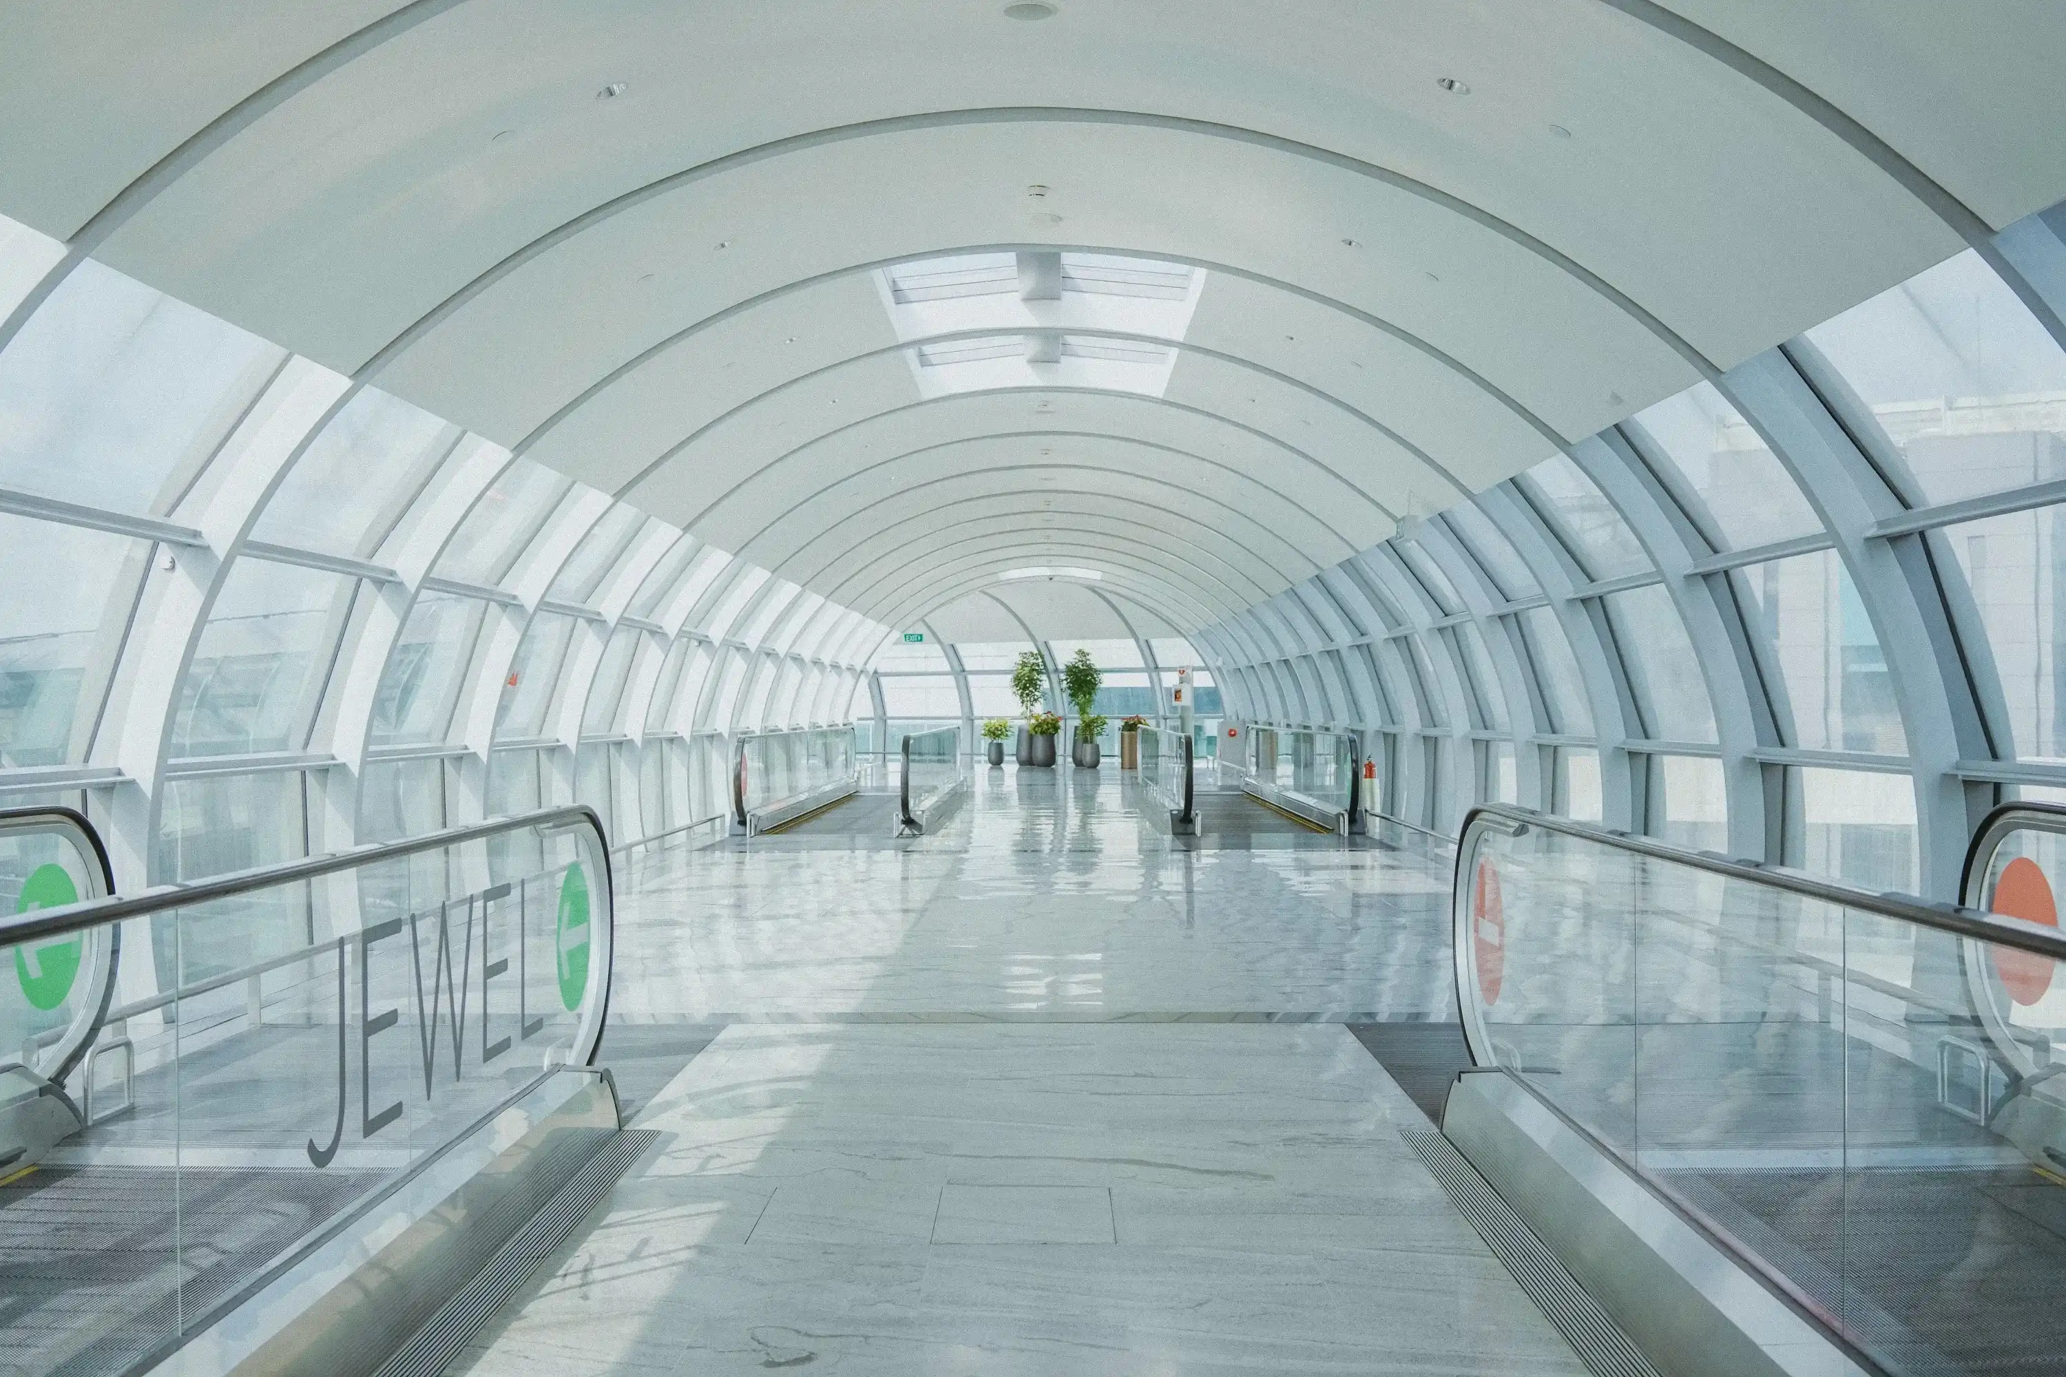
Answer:
[(1229, 712), (1479, 801), (1954, 898), (2066, 799), (2066, 206), (1200, 630)]

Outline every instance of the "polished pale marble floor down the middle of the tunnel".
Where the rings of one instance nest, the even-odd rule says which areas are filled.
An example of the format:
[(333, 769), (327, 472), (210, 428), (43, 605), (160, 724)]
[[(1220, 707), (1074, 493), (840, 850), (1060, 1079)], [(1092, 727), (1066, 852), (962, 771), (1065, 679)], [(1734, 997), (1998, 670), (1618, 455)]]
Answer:
[(1130, 789), (636, 869), (616, 1016), (721, 1032), (452, 1371), (1583, 1373), (1347, 1030), (1450, 1016), (1448, 857), (1176, 844)]

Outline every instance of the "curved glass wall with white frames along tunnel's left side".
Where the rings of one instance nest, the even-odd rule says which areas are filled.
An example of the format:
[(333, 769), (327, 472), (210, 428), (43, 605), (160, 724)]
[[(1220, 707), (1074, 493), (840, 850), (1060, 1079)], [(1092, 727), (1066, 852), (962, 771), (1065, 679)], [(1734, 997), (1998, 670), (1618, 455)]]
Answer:
[[(62, 256), (0, 219), (0, 320)], [(124, 890), (554, 803), (723, 811), (886, 628), (93, 260), (0, 351), (0, 807)]]

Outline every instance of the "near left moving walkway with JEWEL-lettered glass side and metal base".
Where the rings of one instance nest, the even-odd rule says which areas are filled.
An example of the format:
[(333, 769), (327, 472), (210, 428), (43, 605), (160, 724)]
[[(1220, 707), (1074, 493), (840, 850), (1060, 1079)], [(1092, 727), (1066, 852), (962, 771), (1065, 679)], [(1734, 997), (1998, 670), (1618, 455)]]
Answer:
[(628, 1160), (587, 807), (134, 896), (17, 809), (0, 871), (0, 1369), (434, 1371)]

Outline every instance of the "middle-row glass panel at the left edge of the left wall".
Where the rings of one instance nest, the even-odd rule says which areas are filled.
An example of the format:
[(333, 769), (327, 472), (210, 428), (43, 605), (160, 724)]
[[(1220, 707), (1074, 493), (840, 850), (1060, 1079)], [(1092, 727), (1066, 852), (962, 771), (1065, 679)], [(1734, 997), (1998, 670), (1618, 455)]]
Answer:
[(93, 702), (81, 690), (122, 636), (147, 555), (128, 537), (0, 514), (0, 766), (85, 754), (99, 685)]

